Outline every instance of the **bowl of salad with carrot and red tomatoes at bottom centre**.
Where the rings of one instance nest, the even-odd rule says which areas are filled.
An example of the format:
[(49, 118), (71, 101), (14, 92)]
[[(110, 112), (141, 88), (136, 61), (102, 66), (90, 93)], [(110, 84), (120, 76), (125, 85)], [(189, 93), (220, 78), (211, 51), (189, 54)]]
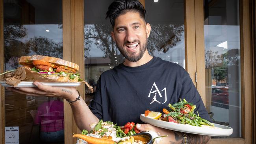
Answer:
[(150, 133), (141, 133), (136, 129), (134, 122), (125, 126), (117, 126), (113, 122), (99, 120), (90, 124), (91, 131), (83, 130), (77, 137), (76, 144), (152, 144)]

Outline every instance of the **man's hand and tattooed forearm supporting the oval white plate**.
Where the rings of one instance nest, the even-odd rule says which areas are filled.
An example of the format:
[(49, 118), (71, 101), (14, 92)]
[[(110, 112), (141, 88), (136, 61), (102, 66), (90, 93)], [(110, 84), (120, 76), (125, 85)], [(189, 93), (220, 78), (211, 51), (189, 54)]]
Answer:
[[(183, 136), (178, 131), (172, 131), (168, 129), (163, 129), (160, 127), (155, 127), (150, 124), (137, 124), (137, 129), (139, 131), (155, 131), (156, 133), (160, 133), (161, 136), (168, 135), (168, 137), (163, 137), (163, 140), (159, 144), (182, 144)], [(187, 134), (187, 143), (188, 144), (209, 144), (210, 136), (207, 135), (195, 135), (195, 134)]]

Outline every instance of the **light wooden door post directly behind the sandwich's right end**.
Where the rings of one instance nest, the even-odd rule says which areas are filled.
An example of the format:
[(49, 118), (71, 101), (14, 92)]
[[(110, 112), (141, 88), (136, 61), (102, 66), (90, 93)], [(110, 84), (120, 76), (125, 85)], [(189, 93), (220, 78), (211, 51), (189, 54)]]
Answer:
[[(83, 0), (63, 0), (63, 59), (80, 66), (80, 78), (84, 79), (84, 7)], [(85, 100), (85, 85), (76, 88)], [(64, 100), (65, 143), (74, 144), (73, 133), (81, 133), (76, 126), (70, 104)]]

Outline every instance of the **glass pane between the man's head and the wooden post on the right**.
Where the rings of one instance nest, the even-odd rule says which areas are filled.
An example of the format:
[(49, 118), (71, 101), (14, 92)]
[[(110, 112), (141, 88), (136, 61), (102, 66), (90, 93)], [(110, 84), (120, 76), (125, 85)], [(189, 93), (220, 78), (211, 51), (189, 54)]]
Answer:
[(184, 0), (145, 0), (148, 52), (185, 68)]

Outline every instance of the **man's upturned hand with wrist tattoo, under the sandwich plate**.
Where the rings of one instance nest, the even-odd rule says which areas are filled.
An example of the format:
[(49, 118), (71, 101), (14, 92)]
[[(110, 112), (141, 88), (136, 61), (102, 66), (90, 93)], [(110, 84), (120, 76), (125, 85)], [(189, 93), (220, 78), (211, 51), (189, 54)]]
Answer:
[(40, 82), (33, 82), (37, 87), (7, 87), (6, 89), (30, 96), (61, 97), (67, 100), (76, 100), (78, 92), (74, 87), (50, 87)]

